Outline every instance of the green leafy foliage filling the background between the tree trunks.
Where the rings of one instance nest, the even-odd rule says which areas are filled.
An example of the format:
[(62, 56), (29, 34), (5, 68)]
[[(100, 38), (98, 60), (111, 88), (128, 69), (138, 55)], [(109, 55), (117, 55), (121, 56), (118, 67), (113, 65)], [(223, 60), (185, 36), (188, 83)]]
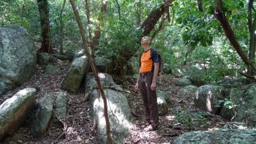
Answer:
[[(128, 58), (139, 48), (142, 31), (138, 23), (143, 23), (155, 7), (163, 1), (108, 1), (107, 12), (100, 12), (102, 1), (91, 1), (91, 25), (88, 26), (84, 0), (76, 0), (80, 18), (89, 36), (92, 37), (96, 26), (101, 28), (97, 55), (111, 58), (118, 69), (123, 69)], [(222, 11), (234, 30), (234, 34), (245, 53), (249, 48), (249, 31), (247, 26), (246, 0), (222, 1)], [(48, 0), (50, 12), (50, 31), (52, 45), (58, 48), (60, 43), (60, 12), (63, 0)], [(238, 72), (246, 69), (233, 46), (230, 45), (218, 20), (214, 17), (216, 1), (204, 0), (203, 12), (197, 8), (195, 0), (173, 1), (170, 8), (170, 22), (165, 20), (165, 27), (159, 31), (152, 42), (152, 47), (159, 50), (164, 63), (172, 67), (183, 67), (188, 71), (192, 67), (200, 70), (200, 75), (207, 83), (217, 82), (223, 77), (237, 77)], [(255, 13), (255, 12), (253, 12)], [(140, 14), (140, 18), (138, 18)], [(165, 15), (166, 17), (167, 15)], [(140, 21), (139, 21), (140, 20)], [(67, 1), (63, 12), (64, 49), (81, 48), (82, 42), (78, 24), (75, 21), (72, 7)], [(154, 31), (158, 28), (160, 18)], [(0, 1), (0, 26), (18, 24), (28, 29), (32, 36), (40, 41), (39, 12), (37, 1), (2, 0)], [(153, 32), (149, 34), (151, 36)], [(256, 64), (256, 59), (253, 61)], [(189, 73), (189, 72), (187, 72)]]

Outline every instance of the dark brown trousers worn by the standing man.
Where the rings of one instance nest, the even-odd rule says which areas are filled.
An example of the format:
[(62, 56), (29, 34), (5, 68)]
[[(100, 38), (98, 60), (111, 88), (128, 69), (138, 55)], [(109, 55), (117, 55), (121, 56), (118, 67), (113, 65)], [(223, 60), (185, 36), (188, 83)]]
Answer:
[(156, 91), (151, 91), (151, 83), (153, 80), (153, 73), (140, 73), (140, 96), (143, 99), (143, 105), (146, 110), (146, 121), (150, 122), (152, 125), (157, 126), (159, 115), (158, 115), (158, 105), (157, 105), (157, 93)]

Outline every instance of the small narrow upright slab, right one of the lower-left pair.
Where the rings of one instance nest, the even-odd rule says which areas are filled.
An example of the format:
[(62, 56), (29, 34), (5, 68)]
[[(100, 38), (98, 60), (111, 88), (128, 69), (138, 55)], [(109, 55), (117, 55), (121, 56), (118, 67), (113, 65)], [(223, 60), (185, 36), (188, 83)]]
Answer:
[(55, 115), (56, 118), (63, 119), (66, 117), (66, 113), (67, 113), (67, 94), (65, 94), (64, 92), (60, 92), (57, 95), (56, 98), (56, 110), (55, 110)]

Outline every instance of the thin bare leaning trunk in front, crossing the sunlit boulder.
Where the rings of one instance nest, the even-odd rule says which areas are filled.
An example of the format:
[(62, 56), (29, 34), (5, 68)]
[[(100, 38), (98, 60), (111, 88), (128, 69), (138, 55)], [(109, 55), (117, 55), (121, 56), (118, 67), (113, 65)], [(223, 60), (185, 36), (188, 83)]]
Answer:
[(89, 53), (86, 32), (83, 29), (83, 24), (80, 20), (78, 10), (75, 7), (75, 2), (74, 2), (74, 0), (69, 0), (69, 1), (70, 1), (70, 4), (72, 5), (72, 9), (73, 9), (73, 12), (74, 12), (74, 15), (75, 15), (75, 20), (77, 20), (77, 23), (78, 23), (78, 26), (79, 26), (79, 29), (80, 29), (80, 34), (81, 34), (82, 41), (83, 41), (83, 48), (86, 50), (86, 56), (89, 59), (89, 64), (91, 66), (92, 72), (94, 72), (94, 78), (97, 81), (97, 85), (98, 85), (100, 94), (102, 96), (103, 102), (104, 102), (104, 116), (105, 116), (105, 121), (106, 121), (106, 132), (107, 132), (107, 136), (108, 136), (108, 143), (113, 144), (113, 140), (112, 140), (112, 137), (110, 135), (110, 121), (108, 119), (107, 99), (106, 99), (106, 96), (104, 94), (102, 85), (100, 83), (99, 75), (98, 75), (98, 72), (97, 72), (97, 68), (95, 67), (94, 60), (93, 60), (93, 58), (91, 58), (91, 54)]

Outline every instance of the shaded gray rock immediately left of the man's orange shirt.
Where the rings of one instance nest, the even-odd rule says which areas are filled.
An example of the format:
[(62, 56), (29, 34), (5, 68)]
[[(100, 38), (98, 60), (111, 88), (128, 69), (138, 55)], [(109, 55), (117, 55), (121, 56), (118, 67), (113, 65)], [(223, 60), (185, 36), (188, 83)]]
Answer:
[(128, 75), (135, 75), (138, 74), (139, 72), (139, 57), (137, 56), (132, 56), (129, 58), (129, 61), (127, 63), (127, 74)]

